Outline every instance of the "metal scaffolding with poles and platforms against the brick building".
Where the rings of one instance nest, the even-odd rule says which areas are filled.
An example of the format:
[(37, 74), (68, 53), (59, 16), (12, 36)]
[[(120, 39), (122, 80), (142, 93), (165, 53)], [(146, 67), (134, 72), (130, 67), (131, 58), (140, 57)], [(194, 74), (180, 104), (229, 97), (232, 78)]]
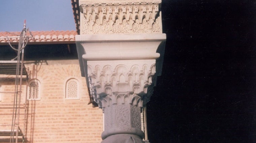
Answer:
[[(30, 36), (29, 36), (30, 35)], [(25, 103), (23, 106), (21, 106), (21, 94), (22, 94), (22, 82), (23, 82), (23, 75), (26, 76), (26, 81), (28, 81), (28, 73), (26, 71), (26, 68), (24, 66), (24, 48), (26, 47), (29, 37), (31, 37), (31, 32), (26, 28), (26, 20), (24, 21), (24, 27), (21, 31), (21, 34), (19, 37), (19, 45), (18, 49), (15, 49), (9, 42), (10, 47), (17, 51), (17, 57), (12, 59), (11, 61), (0, 61), (0, 74), (8, 74), (8, 75), (15, 75), (15, 88), (12, 92), (0, 92), (0, 93), (12, 93), (14, 94), (13, 97), (13, 104), (2, 104), (3, 107), (6, 109), (12, 108), (12, 121), (11, 125), (4, 125), (4, 126), (10, 126), (11, 130), (2, 130), (0, 131), (0, 136), (10, 136), (10, 143), (14, 143), (14, 140), (16, 143), (18, 143), (18, 136), (22, 137), (22, 142), (25, 141), (25, 126), (26, 126), (26, 111), (27, 111), (27, 93), (25, 94)], [(26, 83), (27, 85), (27, 83)], [(24, 128), (23, 131), (20, 128), (20, 109), (25, 108), (25, 115), (24, 115)]]

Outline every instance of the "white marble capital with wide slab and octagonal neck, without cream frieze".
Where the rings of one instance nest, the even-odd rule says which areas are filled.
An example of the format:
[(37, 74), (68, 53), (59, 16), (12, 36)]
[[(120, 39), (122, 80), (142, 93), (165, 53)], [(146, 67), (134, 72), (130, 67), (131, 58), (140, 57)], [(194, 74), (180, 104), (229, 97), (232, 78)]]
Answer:
[[(161, 75), (165, 34), (76, 35), (82, 76), (104, 113), (102, 143), (143, 142), (140, 111)], [(115, 140), (115, 141), (113, 141)]]

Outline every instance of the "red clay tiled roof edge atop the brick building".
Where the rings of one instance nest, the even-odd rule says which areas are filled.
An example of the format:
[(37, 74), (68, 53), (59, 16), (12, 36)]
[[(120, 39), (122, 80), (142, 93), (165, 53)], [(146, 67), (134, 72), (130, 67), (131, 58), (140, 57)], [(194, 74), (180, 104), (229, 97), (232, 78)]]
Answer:
[[(55, 42), (55, 41), (75, 41), (77, 32), (74, 30), (67, 31), (31, 31), (33, 38), (29, 42)], [(19, 42), (21, 32), (0, 32), (0, 43)], [(29, 35), (29, 33), (27, 33)]]

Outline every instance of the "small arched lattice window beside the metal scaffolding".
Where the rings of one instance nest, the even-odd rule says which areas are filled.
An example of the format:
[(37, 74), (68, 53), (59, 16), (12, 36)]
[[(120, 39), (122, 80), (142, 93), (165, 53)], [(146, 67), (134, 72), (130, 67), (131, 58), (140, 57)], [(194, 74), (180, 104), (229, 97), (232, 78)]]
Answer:
[(32, 79), (28, 82), (28, 100), (40, 100), (40, 82)]

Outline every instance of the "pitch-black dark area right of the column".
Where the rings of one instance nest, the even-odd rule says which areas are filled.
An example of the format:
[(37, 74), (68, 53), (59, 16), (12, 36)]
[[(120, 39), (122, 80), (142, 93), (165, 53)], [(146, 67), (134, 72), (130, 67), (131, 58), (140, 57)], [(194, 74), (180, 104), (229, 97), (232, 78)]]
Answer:
[(162, 76), (151, 143), (256, 142), (255, 1), (162, 0)]

